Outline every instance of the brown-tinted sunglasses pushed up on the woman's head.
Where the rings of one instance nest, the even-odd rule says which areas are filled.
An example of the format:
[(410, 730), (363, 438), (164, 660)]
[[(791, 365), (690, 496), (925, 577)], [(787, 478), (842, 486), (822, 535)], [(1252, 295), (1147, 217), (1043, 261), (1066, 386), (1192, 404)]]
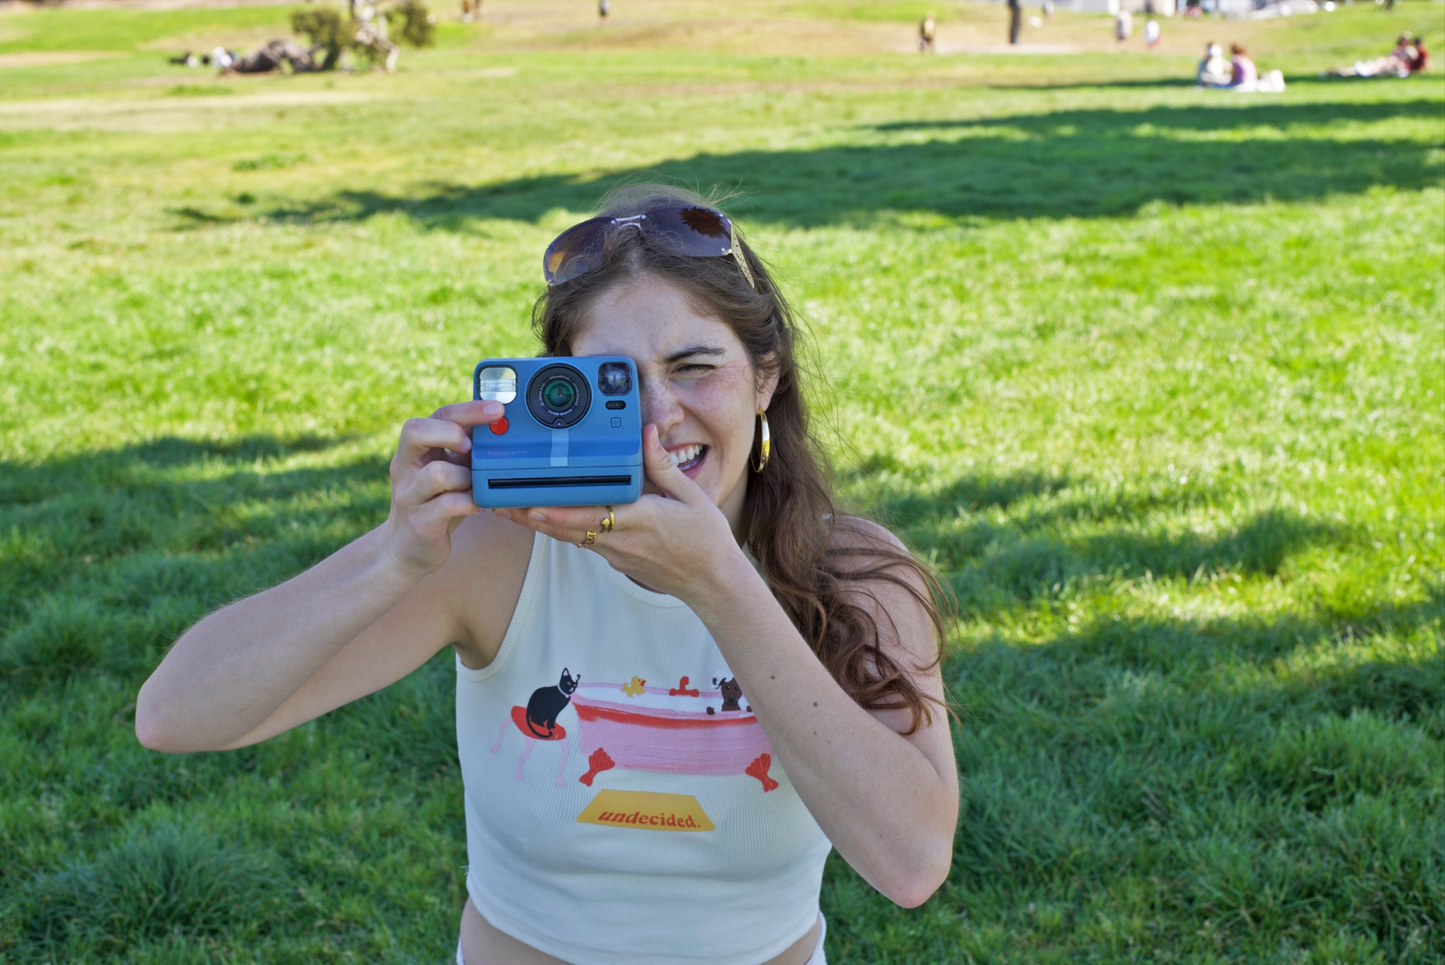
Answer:
[(678, 254), (698, 259), (721, 259), (733, 256), (743, 277), (757, 290), (753, 270), (747, 267), (743, 247), (737, 243), (733, 222), (727, 215), (712, 208), (692, 204), (665, 205), (626, 218), (590, 218), (556, 235), (542, 256), (542, 274), (546, 283), (561, 285), (585, 274), (603, 263), (603, 250), (613, 231), (637, 228), (643, 237), (659, 243)]

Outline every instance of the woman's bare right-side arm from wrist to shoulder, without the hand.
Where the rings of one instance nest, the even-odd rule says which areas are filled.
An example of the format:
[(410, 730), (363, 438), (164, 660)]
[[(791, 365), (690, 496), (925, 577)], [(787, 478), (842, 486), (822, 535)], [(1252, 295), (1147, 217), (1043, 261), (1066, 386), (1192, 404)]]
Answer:
[[(919, 585), (922, 589), (922, 585)], [(942, 699), (935, 631), (906, 589), (887, 582), (855, 600), (880, 646), (919, 691)], [(915, 907), (948, 877), (958, 822), (958, 766), (948, 717), (910, 722), (906, 709), (858, 706), (814, 656), (767, 584), (738, 553), (714, 591), (691, 602), (712, 631), (798, 795), (853, 868), (897, 904)]]

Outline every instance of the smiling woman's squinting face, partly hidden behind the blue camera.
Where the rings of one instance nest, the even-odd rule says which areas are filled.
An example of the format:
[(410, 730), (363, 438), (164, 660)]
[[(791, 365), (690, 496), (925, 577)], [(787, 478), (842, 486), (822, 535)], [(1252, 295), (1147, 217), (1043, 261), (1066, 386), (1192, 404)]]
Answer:
[[(676, 287), (640, 276), (597, 298), (572, 341), (577, 355), (629, 355), (637, 363), (643, 425), (737, 530), (747, 494), (756, 413), (773, 378), (759, 384), (743, 344), (724, 322)], [(656, 493), (649, 482), (644, 493)]]

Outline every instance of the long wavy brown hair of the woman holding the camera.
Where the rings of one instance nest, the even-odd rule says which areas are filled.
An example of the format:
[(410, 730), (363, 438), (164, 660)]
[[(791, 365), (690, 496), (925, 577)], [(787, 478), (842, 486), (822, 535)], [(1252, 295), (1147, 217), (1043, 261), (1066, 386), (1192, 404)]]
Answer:
[[(717, 208), (692, 192), (659, 185), (630, 185), (608, 194), (603, 217), (627, 217), (669, 204)], [(767, 407), (772, 455), (747, 481), (743, 503), (744, 545), (793, 626), (838, 685), (870, 709), (907, 708), (912, 725), (932, 721), (929, 701), (912, 678), (879, 646), (879, 626), (860, 595), (879, 581), (907, 589), (933, 621), (942, 657), (946, 595), (938, 578), (857, 516), (838, 513), (831, 468), (809, 428), (798, 363), (799, 329), (772, 274), (746, 243), (743, 256), (757, 282), (747, 283), (730, 257), (688, 257), (669, 251), (642, 231), (608, 235), (600, 266), (543, 293), (532, 324), (546, 354), (571, 355), (587, 326), (594, 300), (614, 286), (647, 274), (673, 285), (694, 308), (727, 324), (759, 374), (776, 374)], [(754, 451), (757, 442), (754, 441)], [(881, 613), (881, 608), (880, 608)], [(886, 617), (886, 614), (884, 614)]]

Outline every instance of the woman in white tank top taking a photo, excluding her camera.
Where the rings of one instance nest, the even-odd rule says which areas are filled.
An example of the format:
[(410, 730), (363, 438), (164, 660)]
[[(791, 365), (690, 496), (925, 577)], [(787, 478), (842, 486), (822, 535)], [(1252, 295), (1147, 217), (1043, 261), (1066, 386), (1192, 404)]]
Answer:
[(478, 513), (470, 429), (501, 406), (412, 419), (386, 523), (186, 631), (136, 731), (244, 747), (451, 646), (458, 962), (818, 965), (829, 845), (909, 907), (948, 874), (933, 585), (834, 511), (792, 315), (724, 215), (634, 188), (545, 273), (546, 354), (637, 364), (642, 498)]

